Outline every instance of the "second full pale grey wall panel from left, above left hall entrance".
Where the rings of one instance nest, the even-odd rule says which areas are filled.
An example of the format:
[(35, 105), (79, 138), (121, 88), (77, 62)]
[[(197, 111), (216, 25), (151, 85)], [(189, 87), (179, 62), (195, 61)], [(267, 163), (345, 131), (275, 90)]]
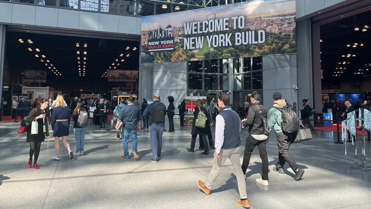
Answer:
[(36, 7), (36, 26), (58, 27), (58, 10), (50, 7)]

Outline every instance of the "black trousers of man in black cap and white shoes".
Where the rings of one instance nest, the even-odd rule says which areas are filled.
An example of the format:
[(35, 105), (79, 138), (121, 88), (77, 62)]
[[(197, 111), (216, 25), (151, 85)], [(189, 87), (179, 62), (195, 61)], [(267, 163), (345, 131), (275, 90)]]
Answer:
[(249, 135), (246, 139), (245, 151), (243, 153), (242, 171), (246, 174), (247, 167), (249, 167), (251, 153), (257, 146), (259, 148), (260, 159), (262, 159), (262, 179), (268, 180), (268, 155), (267, 155), (267, 144), (268, 138), (265, 140), (257, 140), (253, 136)]

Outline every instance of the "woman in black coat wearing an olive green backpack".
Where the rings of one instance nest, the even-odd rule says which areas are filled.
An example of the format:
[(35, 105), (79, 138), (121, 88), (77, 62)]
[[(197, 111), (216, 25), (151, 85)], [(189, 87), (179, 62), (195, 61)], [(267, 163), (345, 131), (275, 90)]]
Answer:
[(192, 134), (191, 148), (187, 148), (187, 151), (194, 152), (194, 146), (196, 145), (196, 138), (197, 138), (197, 135), (199, 135), (200, 141), (203, 142), (204, 144), (203, 147), (205, 148), (205, 151), (202, 152), (201, 154), (209, 155), (209, 145), (207, 144), (207, 140), (206, 140), (206, 128), (196, 127), (196, 119), (200, 111), (206, 115), (206, 109), (203, 107), (202, 100), (198, 99), (196, 102), (196, 107), (194, 108), (194, 111), (193, 111), (194, 118), (193, 118), (193, 123), (192, 123), (192, 132), (191, 132)]

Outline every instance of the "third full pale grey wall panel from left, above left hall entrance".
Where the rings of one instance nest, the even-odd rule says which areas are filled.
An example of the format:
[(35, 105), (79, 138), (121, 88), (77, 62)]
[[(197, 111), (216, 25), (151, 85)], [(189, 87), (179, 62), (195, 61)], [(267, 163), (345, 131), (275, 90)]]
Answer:
[(59, 9), (58, 28), (79, 29), (80, 11)]

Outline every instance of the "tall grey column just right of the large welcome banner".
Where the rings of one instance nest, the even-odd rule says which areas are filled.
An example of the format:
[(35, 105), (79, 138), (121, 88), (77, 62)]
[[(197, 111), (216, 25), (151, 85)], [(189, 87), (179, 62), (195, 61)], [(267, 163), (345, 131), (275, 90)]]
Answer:
[[(296, 23), (298, 102), (313, 98), (311, 19)], [(301, 103), (298, 104), (300, 107)], [(300, 112), (299, 112), (300, 113)]]

